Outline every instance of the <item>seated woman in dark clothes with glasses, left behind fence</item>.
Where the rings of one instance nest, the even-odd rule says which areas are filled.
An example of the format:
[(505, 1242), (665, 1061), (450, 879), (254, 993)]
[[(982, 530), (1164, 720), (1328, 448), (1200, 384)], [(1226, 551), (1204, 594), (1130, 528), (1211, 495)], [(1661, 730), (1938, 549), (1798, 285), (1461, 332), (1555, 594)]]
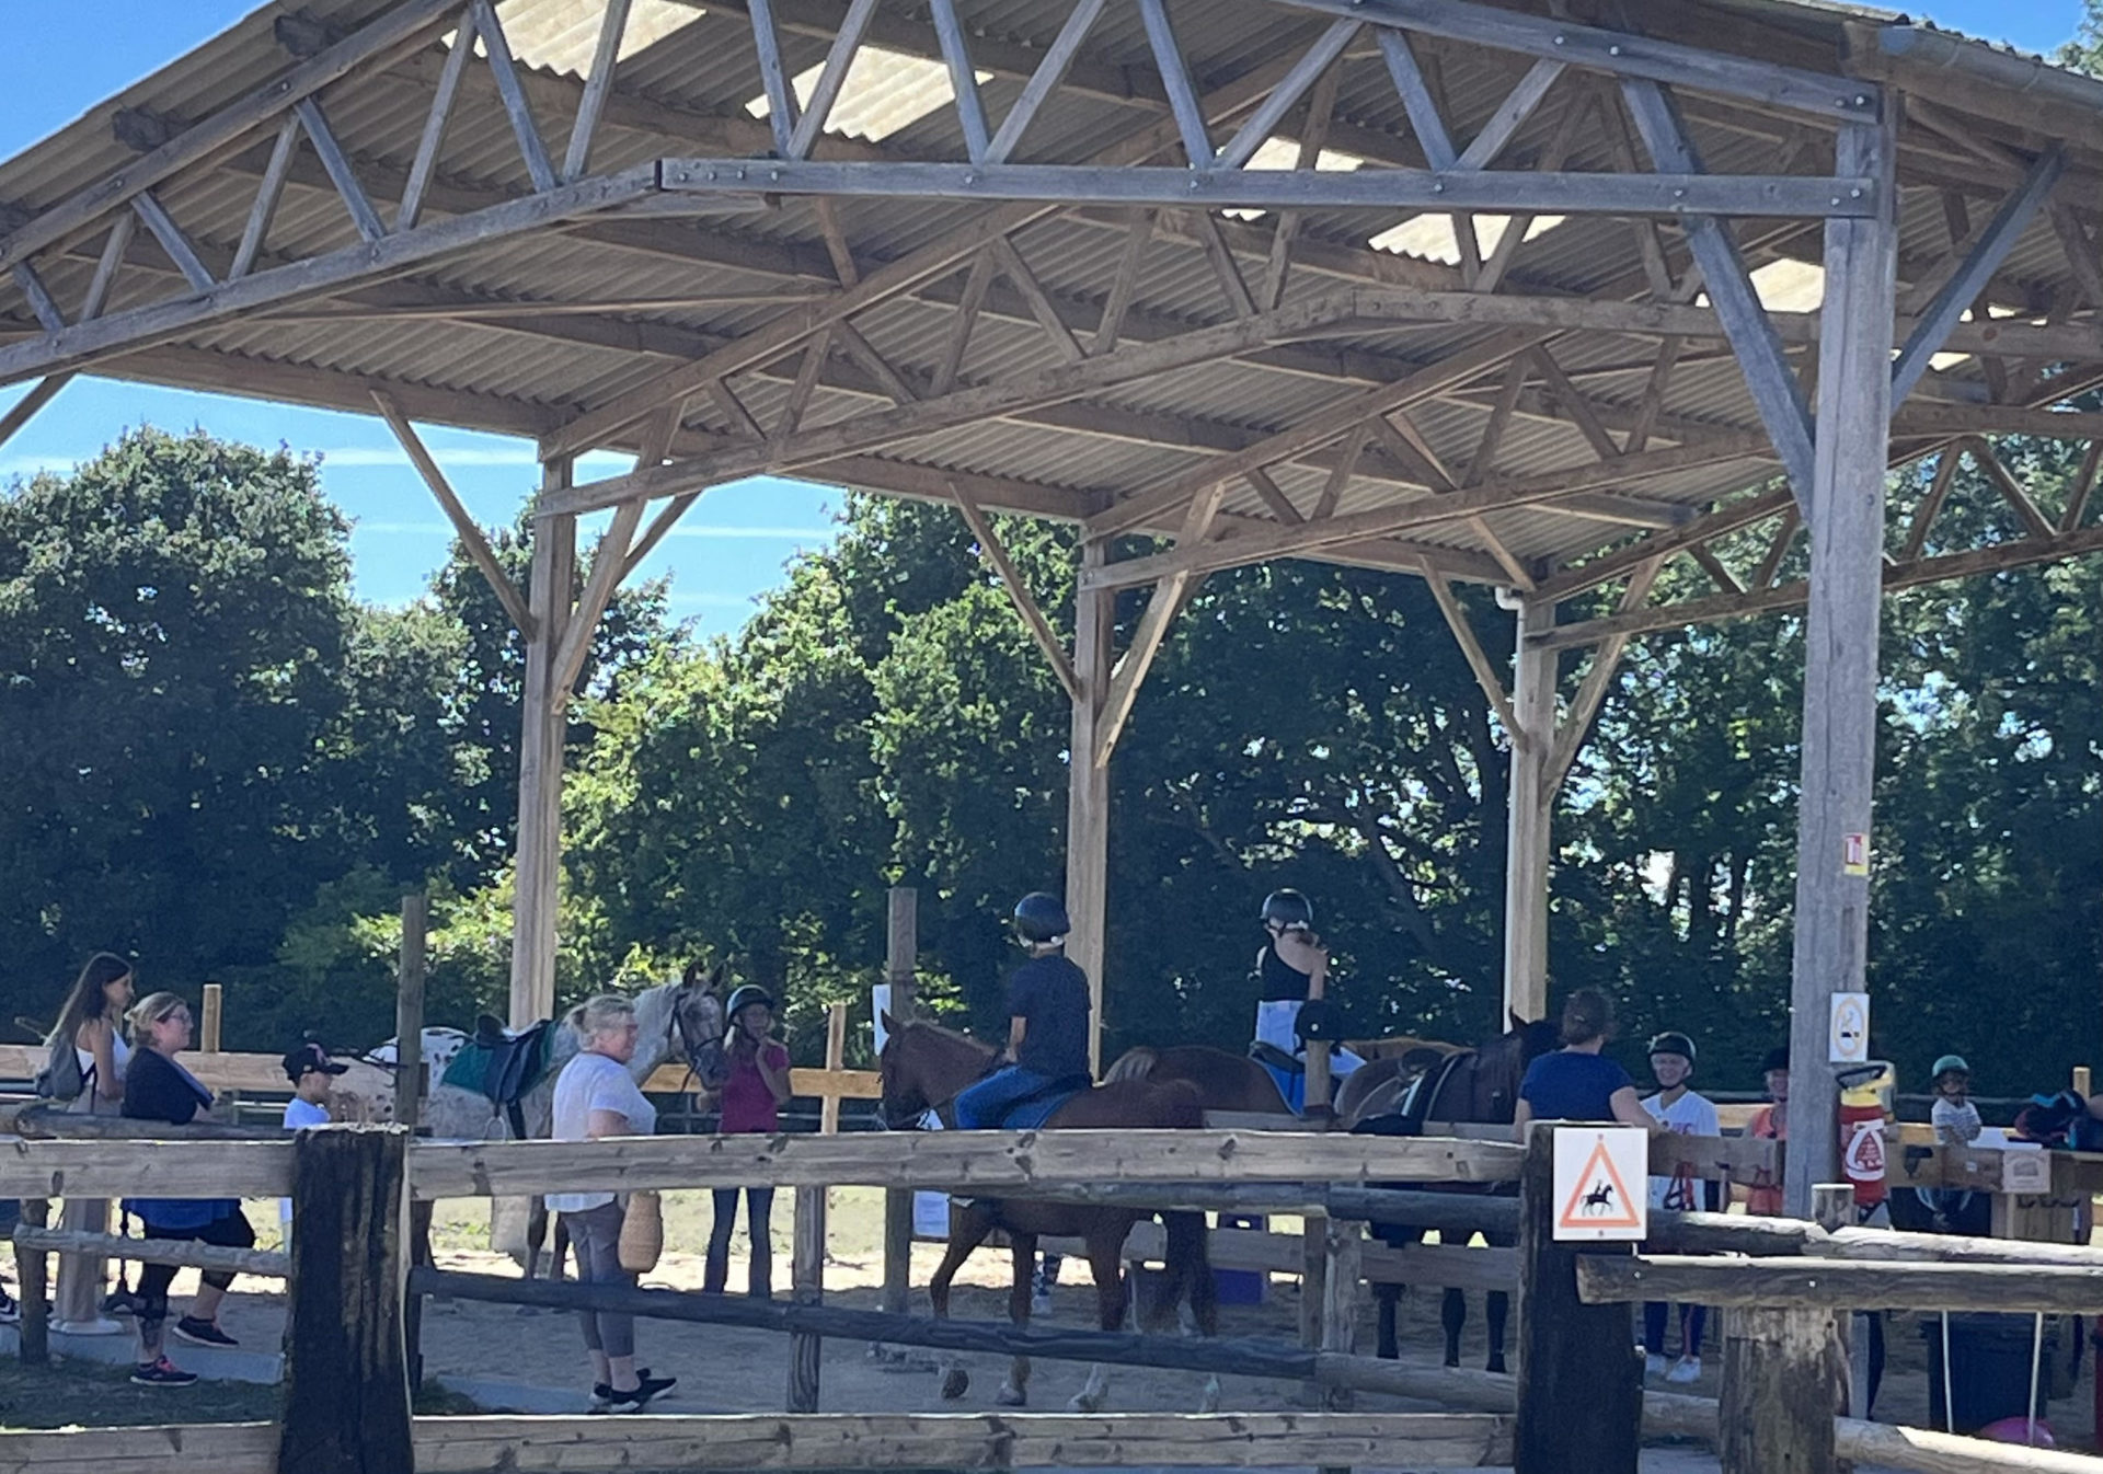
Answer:
[[(128, 1119), (189, 1125), (200, 1108), (212, 1104), (212, 1091), (175, 1060), (189, 1047), (189, 1005), (172, 992), (154, 992), (130, 1011), (132, 1062), (124, 1072)], [(236, 1199), (124, 1199), (124, 1211), (145, 1222), (147, 1238), (193, 1238), (227, 1249), (252, 1249), (257, 1243)], [(175, 1323), (175, 1335), (191, 1346), (238, 1346), (219, 1329), (219, 1304), (233, 1272), (204, 1270), (202, 1278), (189, 1314)], [(198, 1373), (170, 1365), (162, 1350), (172, 1281), (172, 1264), (147, 1264), (139, 1274), (139, 1365), (132, 1381), (143, 1386), (189, 1386), (198, 1379)]]

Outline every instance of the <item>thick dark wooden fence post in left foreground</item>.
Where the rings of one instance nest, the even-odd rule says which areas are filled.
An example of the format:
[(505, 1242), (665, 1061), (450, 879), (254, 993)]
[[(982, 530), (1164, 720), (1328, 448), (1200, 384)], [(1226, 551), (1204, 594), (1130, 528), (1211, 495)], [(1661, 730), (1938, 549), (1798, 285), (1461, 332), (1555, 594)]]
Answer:
[(408, 1131), (292, 1138), (292, 1276), (280, 1474), (416, 1468), (404, 1339)]

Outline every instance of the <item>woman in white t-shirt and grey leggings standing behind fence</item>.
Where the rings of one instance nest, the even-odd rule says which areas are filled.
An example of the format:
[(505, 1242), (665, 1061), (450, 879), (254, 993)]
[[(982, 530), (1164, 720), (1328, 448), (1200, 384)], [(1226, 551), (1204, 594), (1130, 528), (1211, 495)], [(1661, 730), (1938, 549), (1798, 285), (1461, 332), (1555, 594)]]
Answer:
[[(578, 1005), (570, 1022), (585, 1043), (555, 1079), (555, 1140), (652, 1135), (656, 1106), (644, 1100), (629, 1074), (629, 1060), (635, 1058), (635, 1005), (601, 992)], [(635, 1285), (635, 1276), (620, 1268), (620, 1199), (612, 1192), (551, 1192), (547, 1205), (562, 1213), (562, 1224), (570, 1230), (580, 1283)], [(591, 1352), (593, 1411), (639, 1413), (677, 1384), (677, 1377), (652, 1377), (648, 1367), (635, 1365), (635, 1316), (583, 1310), (578, 1318), (585, 1350)]]

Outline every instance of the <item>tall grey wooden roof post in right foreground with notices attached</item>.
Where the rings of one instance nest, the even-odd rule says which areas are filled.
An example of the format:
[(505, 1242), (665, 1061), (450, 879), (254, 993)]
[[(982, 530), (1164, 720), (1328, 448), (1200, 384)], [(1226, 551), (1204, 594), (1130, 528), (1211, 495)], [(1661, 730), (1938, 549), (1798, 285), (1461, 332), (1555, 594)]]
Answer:
[[(1895, 111), (1895, 109), (1886, 109)], [(1840, 128), (1836, 168), (1878, 181), (1874, 219), (1828, 221), (1813, 454), (1811, 608), (1796, 822), (1796, 942), (1790, 986), (1790, 1150), (1783, 1205), (1840, 1175), (1832, 995), (1859, 992), (1870, 944), (1870, 875), (1846, 858), (1870, 841), (1876, 780), (1876, 641), (1891, 450), (1891, 322), (1897, 282), (1895, 122)]]

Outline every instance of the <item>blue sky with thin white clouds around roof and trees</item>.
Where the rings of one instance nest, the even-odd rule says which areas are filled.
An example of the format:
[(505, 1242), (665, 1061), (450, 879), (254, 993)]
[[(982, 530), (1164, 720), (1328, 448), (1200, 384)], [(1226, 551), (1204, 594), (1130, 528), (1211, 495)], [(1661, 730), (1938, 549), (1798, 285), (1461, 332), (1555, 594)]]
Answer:
[[(0, 90), (0, 156), (61, 128), (248, 8), (250, 0), (6, 0), (13, 65)], [(2080, 0), (1926, 0), (1905, 8), (1914, 19), (2034, 53), (2071, 38), (2082, 13)], [(0, 406), (21, 393), (0, 389)], [(320, 452), (322, 484), (355, 521), (351, 553), (366, 599), (412, 599), (446, 557), (444, 515), (387, 429), (368, 416), (76, 378), (0, 448), (0, 482), (38, 467), (65, 469), (139, 423), (202, 425), (229, 439)], [(484, 524), (517, 515), (536, 482), (526, 442), (444, 429), (431, 429), (429, 442)], [(616, 465), (587, 463), (585, 473)], [(675, 614), (709, 633), (734, 631), (799, 547), (831, 536), (837, 503), (837, 492), (770, 477), (709, 492), (652, 553), (646, 574), (671, 578)]]

